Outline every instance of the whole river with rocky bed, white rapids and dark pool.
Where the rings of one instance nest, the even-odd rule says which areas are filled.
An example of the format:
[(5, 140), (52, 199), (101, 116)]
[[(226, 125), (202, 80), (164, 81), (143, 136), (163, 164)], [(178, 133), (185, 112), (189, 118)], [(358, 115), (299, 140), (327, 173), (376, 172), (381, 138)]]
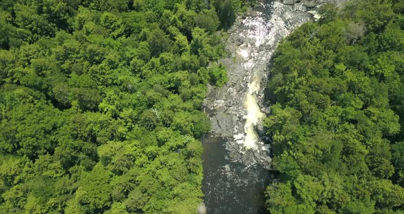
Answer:
[(231, 56), (221, 60), (229, 82), (210, 88), (203, 105), (212, 123), (212, 132), (201, 139), (208, 214), (266, 213), (271, 159), (262, 119), (269, 113), (263, 102), (268, 62), (281, 38), (313, 19), (309, 10), (316, 6), (294, 2), (260, 1), (229, 30)]

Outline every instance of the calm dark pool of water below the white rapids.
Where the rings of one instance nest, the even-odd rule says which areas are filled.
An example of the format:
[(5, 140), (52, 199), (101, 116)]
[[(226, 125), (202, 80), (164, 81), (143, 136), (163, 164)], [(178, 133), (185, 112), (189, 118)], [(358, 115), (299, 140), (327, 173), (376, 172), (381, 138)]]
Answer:
[(246, 167), (231, 162), (226, 140), (205, 136), (203, 143), (203, 180), (207, 213), (266, 213), (264, 191), (269, 174), (260, 165)]

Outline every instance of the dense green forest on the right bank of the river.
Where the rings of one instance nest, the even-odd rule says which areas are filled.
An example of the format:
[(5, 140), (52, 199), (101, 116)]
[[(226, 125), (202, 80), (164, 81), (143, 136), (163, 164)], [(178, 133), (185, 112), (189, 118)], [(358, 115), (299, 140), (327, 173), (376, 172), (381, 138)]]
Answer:
[(270, 213), (404, 213), (404, 1), (323, 5), (271, 64)]

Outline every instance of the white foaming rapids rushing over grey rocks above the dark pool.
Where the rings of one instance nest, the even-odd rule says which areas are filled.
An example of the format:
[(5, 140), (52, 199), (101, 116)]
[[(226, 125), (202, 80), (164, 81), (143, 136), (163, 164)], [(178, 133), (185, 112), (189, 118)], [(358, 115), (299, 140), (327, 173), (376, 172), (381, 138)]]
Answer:
[[(286, 21), (297, 15), (292, 9), (284, 10), (288, 7), (280, 2), (273, 2), (273, 15), (265, 16), (257, 12), (255, 16), (248, 16), (242, 21), (244, 30), (240, 32), (240, 38), (245, 38), (244, 43), (238, 47), (238, 54), (244, 58), (242, 66), (250, 73), (251, 78), (244, 78), (249, 82), (248, 91), (243, 100), (246, 114), (243, 126), (244, 135), (237, 132), (234, 139), (237, 143), (243, 144), (247, 149), (257, 150), (260, 138), (257, 136), (255, 126), (265, 117), (257, 104), (257, 94), (260, 93), (260, 84), (264, 75), (266, 64), (273, 54), (273, 49), (279, 41), (279, 36), (287, 36), (291, 29), (286, 27)], [(314, 13), (314, 16), (316, 14)], [(303, 22), (302, 22), (303, 23)], [(262, 48), (268, 51), (262, 51)], [(262, 146), (261, 146), (262, 147)], [(264, 148), (264, 150), (266, 150)]]

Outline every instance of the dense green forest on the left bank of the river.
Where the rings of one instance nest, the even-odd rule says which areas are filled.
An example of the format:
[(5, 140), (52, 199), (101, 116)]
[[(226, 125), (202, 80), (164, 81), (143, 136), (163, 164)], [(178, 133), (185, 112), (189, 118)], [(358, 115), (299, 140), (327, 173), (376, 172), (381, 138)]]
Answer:
[(0, 213), (196, 213), (245, 3), (1, 0)]

